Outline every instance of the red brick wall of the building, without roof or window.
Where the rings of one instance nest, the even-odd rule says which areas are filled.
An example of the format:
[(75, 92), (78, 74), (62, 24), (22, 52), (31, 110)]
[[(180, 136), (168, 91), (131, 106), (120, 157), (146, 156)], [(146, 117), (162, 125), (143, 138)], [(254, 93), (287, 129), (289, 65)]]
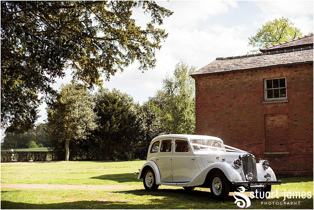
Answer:
[[(274, 77), (286, 77), (289, 102), (263, 104), (264, 79)], [(276, 174), (313, 174), (313, 64), (194, 78), (196, 134), (268, 159)]]

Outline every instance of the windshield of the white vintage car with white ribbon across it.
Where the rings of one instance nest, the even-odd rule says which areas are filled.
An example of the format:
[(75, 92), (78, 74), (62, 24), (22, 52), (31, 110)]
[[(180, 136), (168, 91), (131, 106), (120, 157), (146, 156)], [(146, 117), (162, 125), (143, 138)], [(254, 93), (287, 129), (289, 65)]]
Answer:
[(224, 144), (220, 140), (213, 139), (191, 139), (191, 145), (194, 151), (198, 150), (223, 150), (225, 151)]

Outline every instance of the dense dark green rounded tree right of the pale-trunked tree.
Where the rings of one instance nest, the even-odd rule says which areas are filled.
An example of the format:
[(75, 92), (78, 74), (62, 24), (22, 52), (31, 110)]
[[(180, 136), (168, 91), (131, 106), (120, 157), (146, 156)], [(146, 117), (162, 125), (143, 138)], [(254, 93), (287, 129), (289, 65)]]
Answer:
[(132, 159), (135, 143), (141, 138), (133, 98), (117, 90), (100, 90), (95, 95), (95, 112), (99, 126), (91, 139), (95, 142), (96, 159)]

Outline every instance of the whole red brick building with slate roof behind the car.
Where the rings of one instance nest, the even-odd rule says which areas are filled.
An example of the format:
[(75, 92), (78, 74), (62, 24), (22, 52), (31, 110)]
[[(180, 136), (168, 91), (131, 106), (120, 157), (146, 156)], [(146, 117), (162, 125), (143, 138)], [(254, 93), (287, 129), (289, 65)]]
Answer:
[(196, 134), (251, 151), (276, 174), (313, 174), (313, 34), (260, 51), (191, 75)]

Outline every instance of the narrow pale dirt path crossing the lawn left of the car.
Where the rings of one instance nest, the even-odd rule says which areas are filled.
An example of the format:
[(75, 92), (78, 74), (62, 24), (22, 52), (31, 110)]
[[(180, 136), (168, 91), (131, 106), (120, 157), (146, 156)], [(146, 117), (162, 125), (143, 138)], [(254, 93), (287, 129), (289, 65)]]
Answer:
[(140, 189), (138, 185), (50, 185), (50, 184), (1, 184), (2, 187), (20, 189), (82, 189), (82, 190), (125, 190)]

